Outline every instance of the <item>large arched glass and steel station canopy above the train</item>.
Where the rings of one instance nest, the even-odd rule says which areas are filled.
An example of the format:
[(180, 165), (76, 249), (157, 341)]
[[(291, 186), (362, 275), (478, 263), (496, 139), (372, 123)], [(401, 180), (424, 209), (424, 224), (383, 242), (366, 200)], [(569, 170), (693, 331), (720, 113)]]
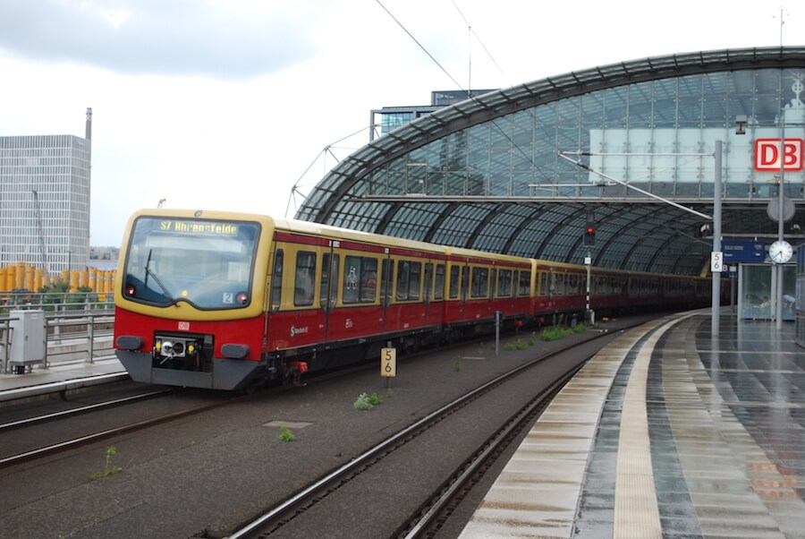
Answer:
[[(652, 57), (496, 90), (355, 151), (296, 218), (551, 261), (583, 263), (589, 252), (600, 267), (703, 274), (716, 141), (724, 240), (771, 243), (781, 171), (772, 161), (758, 167), (755, 148), (781, 132), (805, 139), (803, 78), (805, 48), (772, 47)], [(783, 173), (785, 237), (798, 244), (801, 162)]]

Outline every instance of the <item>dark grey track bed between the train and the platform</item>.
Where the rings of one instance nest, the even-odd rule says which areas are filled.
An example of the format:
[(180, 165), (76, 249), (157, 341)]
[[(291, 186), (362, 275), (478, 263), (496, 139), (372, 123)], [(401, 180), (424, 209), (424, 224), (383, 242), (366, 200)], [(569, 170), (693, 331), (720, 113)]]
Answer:
[[(626, 321), (618, 322), (610, 331), (624, 329), (625, 324)], [(600, 340), (597, 337), (600, 335), (589, 331), (567, 341)], [(514, 340), (509, 338), (508, 342)], [(547, 386), (553, 384), (547, 381), (571, 372), (573, 364), (583, 363), (594, 353), (592, 348), (603, 346), (590, 344), (587, 352), (574, 347), (560, 354), (559, 350), (568, 346), (567, 341), (541, 343), (520, 353), (501, 351), (499, 356), (490, 351), (488, 341), (442, 348), (420, 358), (407, 356), (398, 366), (402, 371), (394, 381), (393, 398), (386, 396), (383, 406), (369, 412), (353, 410), (352, 402), (353, 396), (362, 390), (377, 389), (381, 379), (375, 364), (349, 370), (346, 375), (335, 372), (324, 383), (309, 381), (303, 388), (233, 398), (229, 402), (233, 406), (208, 408), (208, 413), (198, 413), (203, 412), (199, 410), (199, 399), (191, 406), (194, 412), (177, 415), (173, 422), (165, 417), (161, 425), (159, 420), (140, 424), (142, 418), (123, 424), (121, 418), (134, 419), (130, 411), (140, 406), (173, 406), (174, 398), (142, 398), (137, 403), (71, 415), (69, 421), (65, 417), (8, 427), (0, 430), (0, 447), (5, 451), (5, 455), (0, 451), (0, 458), (46, 445), (56, 447), (50, 453), (22, 455), (16, 462), (30, 461), (22, 466), (0, 464), (3, 477), (0, 483), (5, 482), (8, 488), (11, 484), (31, 485), (21, 492), (18, 486), (15, 491), (18, 493), (13, 496), (7, 493), (11, 497), (4, 506), (5, 525), (0, 522), (0, 535), (23, 530), (25, 533), (17, 536), (43, 536), (47, 535), (45, 530), (54, 526), (65, 536), (76, 533), (75, 530), (85, 537), (125, 535), (124, 530), (129, 529), (126, 523), (131, 526), (131, 518), (120, 519), (118, 524), (119, 519), (113, 514), (99, 520), (92, 513), (91, 508), (96, 508), (98, 502), (114, 496), (120, 500), (115, 502), (119, 504), (115, 508), (125, 511), (121, 516), (136, 511), (143, 534), (153, 537), (262, 534), (275, 539), (321, 536), (323, 530), (333, 537), (454, 537), (450, 529), (457, 518), (450, 514), (457, 502), (445, 503), (442, 500), (445, 493), (446, 499), (454, 499), (453, 492), (469, 491), (470, 501), (460, 508), (470, 505), (474, 508), (472, 496), (479, 490), (464, 485), (478, 479), (473, 476), (467, 479), (464, 471), (493, 466), (491, 473), (480, 475), (482, 485), (491, 482), (490, 478), (496, 476), (496, 465), (488, 464), (491, 460), (487, 455), (504, 449), (488, 448), (493, 445), (503, 448), (505, 444), (496, 441), (498, 438), (513, 438), (515, 445), (518, 440), (516, 427), (508, 427), (507, 434), (494, 431), (500, 425), (512, 423), (517, 415), (529, 414), (521, 412), (521, 408), (535, 394), (549, 390)], [(459, 355), (463, 371), (453, 372), (453, 358)], [(508, 380), (490, 382), (504, 370), (510, 370), (508, 367), (524, 364), (537, 355), (543, 356), (542, 361), (533, 367), (522, 368), (519, 375), (510, 375)], [(552, 357), (548, 359), (548, 355)], [(476, 388), (482, 384), (485, 387)], [(463, 396), (470, 393), (468, 389), (474, 389), (474, 395)], [(209, 395), (192, 389), (179, 393)], [(452, 401), (460, 402), (448, 406)], [(71, 436), (79, 444), (72, 448), (58, 447), (64, 440), (56, 440), (50, 434), (54, 428), (75, 431), (77, 426), (84, 428), (86, 424), (97, 427), (97, 417), (110, 413), (118, 416), (117, 424)], [(422, 421), (431, 415), (428, 421)], [(182, 417), (185, 419), (175, 421)], [(277, 427), (270, 426), (284, 420), (308, 421), (312, 426), (304, 430), (300, 427), (299, 431), (292, 427), (298, 439), (285, 444), (277, 441)], [(527, 425), (532, 420), (522, 421)], [(117, 430), (113, 431), (113, 427)], [(43, 431), (48, 432), (50, 443), (9, 449), (14, 440), (37, 438)], [(39, 434), (34, 435), (36, 432)], [(121, 435), (123, 432), (127, 433)], [(98, 437), (78, 440), (87, 434)], [(98, 440), (107, 441), (91, 443)], [(98, 459), (103, 455), (102, 444), (114, 445), (115, 459), (124, 473), (93, 483), (93, 488), (87, 489), (89, 472), (97, 470)], [(73, 449), (80, 445), (87, 447)], [(376, 445), (383, 447), (371, 454)], [(359, 463), (358, 458), (364, 453), (367, 456)], [(470, 464), (473, 460), (487, 464)], [(341, 468), (342, 475), (334, 474)], [(312, 501), (305, 500), (302, 491), (306, 485), (316, 483), (320, 483), (318, 493), (310, 496)], [(52, 484), (52, 488), (43, 492), (45, 484)], [(183, 511), (187, 508), (181, 500), (187, 500), (188, 496), (194, 500), (193, 508)], [(73, 519), (82, 524), (63, 528), (62, 523), (48, 525), (47, 518), (28, 518), (32, 511), (41, 515), (54, 503), (69, 503), (78, 508), (73, 510)], [(271, 522), (266, 521), (270, 529), (246, 529), (281, 506), (284, 509), (269, 518)], [(82, 507), (87, 508), (86, 512)], [(461, 518), (464, 510), (459, 509), (453, 515)], [(429, 521), (420, 523), (423, 517)]]

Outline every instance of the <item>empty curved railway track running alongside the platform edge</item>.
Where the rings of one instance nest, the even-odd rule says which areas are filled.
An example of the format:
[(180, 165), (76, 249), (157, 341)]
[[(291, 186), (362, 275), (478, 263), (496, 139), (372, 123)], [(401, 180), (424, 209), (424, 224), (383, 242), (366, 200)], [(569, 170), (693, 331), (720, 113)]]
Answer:
[[(601, 338), (614, 338), (614, 335), (601, 335)], [(597, 339), (595, 339), (597, 340)], [(530, 425), (538, 418), (542, 410), (550, 402), (551, 398), (560, 390), (566, 381), (586, 363), (586, 361), (597, 352), (597, 349), (605, 343), (592, 343), (585, 341), (577, 346), (567, 348), (558, 354), (547, 357), (538, 357), (526, 364), (501, 374), (494, 380), (488, 381), (478, 388), (472, 389), (458, 398), (454, 398), (445, 406), (441, 406), (434, 412), (425, 415), (413, 424), (395, 432), (385, 441), (367, 449), (359, 456), (352, 458), (350, 462), (332, 470), (329, 474), (320, 477), (314, 483), (294, 492), (291, 496), (276, 503), (272, 508), (239, 527), (233, 533), (226, 535), (228, 539), (254, 539), (267, 537), (291, 537), (300, 536), (313, 528), (324, 529), (323, 523), (302, 524), (295, 526), (298, 520), (307, 518), (322, 518), (322, 515), (333, 512), (334, 509), (316, 510), (319, 505), (329, 505), (332, 507), (343, 507), (347, 502), (337, 500), (339, 496), (351, 496), (352, 492), (367, 490), (371, 486), (367, 477), (377, 477), (377, 475), (393, 475), (393, 471), (398, 468), (399, 462), (386, 465), (387, 460), (391, 460), (401, 449), (410, 449), (410, 455), (405, 458), (410, 459), (409, 466), (416, 466), (416, 463), (423, 458), (427, 458), (428, 440), (434, 436), (447, 436), (453, 432), (455, 424), (471, 421), (475, 410), (483, 406), (492, 406), (490, 402), (496, 399), (506, 398), (513, 393), (520, 394), (520, 390), (509, 389), (513, 381), (522, 375), (532, 372), (545, 362), (554, 361), (555, 363), (566, 363), (560, 368), (558, 375), (553, 376), (551, 382), (532, 394), (513, 415), (505, 418), (499, 428), (492, 429), (478, 446), (470, 450), (465, 457), (458, 459), (458, 464), (454, 466), (448, 474), (441, 479), (431, 482), (430, 490), (420, 500), (419, 504), (409, 504), (407, 516), (400, 519), (397, 526), (386, 522), (383, 526), (372, 527), (371, 536), (389, 537), (432, 537), (436, 536), (442, 524), (449, 518), (453, 509), (472, 489), (472, 486), (479, 481), (479, 478), (493, 466), (496, 459), (504, 453), (518, 437), (527, 432)], [(572, 358), (572, 361), (570, 361)], [(528, 385), (528, 384), (527, 384)], [(468, 419), (470, 417), (470, 419)], [(453, 418), (451, 420), (451, 418)], [(443, 427), (439, 425), (444, 425)], [(419, 446), (419, 447), (416, 447)], [(405, 466), (405, 465), (403, 465)], [(374, 471), (373, 468), (375, 468)], [(371, 471), (371, 473), (370, 473)], [(353, 484), (354, 483), (354, 484)], [(344, 492), (342, 495), (341, 493)], [(331, 499), (333, 499), (331, 501)], [(318, 512), (318, 515), (316, 514)], [(369, 511), (370, 512), (370, 511)], [(310, 516), (310, 517), (309, 517)], [(348, 526), (349, 523), (343, 523)], [(330, 525), (332, 526), (332, 525)], [(354, 531), (354, 530), (353, 530)], [(352, 533), (352, 532), (351, 532)], [(354, 536), (364, 536), (367, 530), (355, 531)], [(205, 535), (203, 532), (198, 537), (210, 537), (220, 535)]]

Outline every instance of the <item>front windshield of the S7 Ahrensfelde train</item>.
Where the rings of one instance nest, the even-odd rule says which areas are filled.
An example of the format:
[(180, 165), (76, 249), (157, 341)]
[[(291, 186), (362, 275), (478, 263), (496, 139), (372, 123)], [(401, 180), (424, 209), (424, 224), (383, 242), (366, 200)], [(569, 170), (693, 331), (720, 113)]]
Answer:
[(141, 217), (126, 253), (123, 295), (143, 304), (237, 309), (251, 301), (256, 223)]

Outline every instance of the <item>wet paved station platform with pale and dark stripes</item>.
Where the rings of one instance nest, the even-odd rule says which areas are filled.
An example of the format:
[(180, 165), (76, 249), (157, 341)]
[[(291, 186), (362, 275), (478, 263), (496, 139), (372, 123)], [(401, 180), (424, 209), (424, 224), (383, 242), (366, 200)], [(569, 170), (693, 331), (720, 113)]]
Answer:
[(548, 407), (461, 537), (805, 536), (794, 327), (652, 321)]

